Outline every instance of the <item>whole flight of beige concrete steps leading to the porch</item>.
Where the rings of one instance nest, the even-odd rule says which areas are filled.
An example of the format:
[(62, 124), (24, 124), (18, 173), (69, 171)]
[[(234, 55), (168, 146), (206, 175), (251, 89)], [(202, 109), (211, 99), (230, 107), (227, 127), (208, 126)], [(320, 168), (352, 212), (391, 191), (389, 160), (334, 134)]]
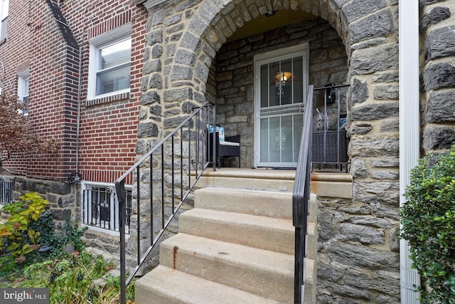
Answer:
[[(137, 281), (136, 303), (293, 302), (292, 187), (284, 185), (290, 174), (273, 179), (272, 170), (262, 170), (271, 181), (264, 183), (249, 171), (225, 171), (196, 190), (195, 208), (179, 216), (179, 233), (161, 243), (160, 266)], [(304, 303), (316, 303), (317, 210), (311, 195)]]

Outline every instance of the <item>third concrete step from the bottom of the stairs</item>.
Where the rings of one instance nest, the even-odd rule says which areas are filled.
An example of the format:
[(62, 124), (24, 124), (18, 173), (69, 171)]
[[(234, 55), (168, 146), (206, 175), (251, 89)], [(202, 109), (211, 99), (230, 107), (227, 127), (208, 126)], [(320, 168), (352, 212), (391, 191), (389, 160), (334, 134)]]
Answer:
[(294, 226), (289, 219), (192, 209), (181, 214), (178, 221), (184, 234), (294, 254)]

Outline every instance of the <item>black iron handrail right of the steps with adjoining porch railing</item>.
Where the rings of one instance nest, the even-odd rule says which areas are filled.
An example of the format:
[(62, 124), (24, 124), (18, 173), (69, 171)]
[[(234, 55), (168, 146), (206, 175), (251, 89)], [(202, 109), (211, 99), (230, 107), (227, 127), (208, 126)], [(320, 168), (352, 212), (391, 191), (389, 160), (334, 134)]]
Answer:
[[(294, 257), (294, 304), (304, 303), (305, 295), (305, 266), (306, 266), (306, 239), (308, 235), (308, 215), (311, 170), (316, 164), (333, 164), (343, 169), (343, 164), (348, 164), (347, 137), (341, 117), (341, 88), (349, 85), (329, 85), (323, 88), (309, 86), (308, 98), (304, 112), (304, 125), (302, 127), (299, 159), (296, 167), (296, 178), (292, 191), (292, 221), (295, 227), (295, 257)], [(324, 90), (323, 111), (316, 111), (317, 116), (313, 117), (314, 91)], [(331, 127), (329, 125), (328, 103), (336, 105), (335, 120)], [(317, 103), (316, 103), (317, 105)], [(317, 109), (317, 108), (316, 108)], [(318, 121), (319, 120), (319, 121)], [(313, 124), (318, 123), (323, 130), (313, 132)]]

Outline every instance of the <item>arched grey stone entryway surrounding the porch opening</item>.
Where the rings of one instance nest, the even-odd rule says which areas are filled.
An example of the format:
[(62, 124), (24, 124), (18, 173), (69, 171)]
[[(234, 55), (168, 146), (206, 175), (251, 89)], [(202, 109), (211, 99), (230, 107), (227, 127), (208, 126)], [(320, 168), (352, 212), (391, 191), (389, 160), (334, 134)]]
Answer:
[[(400, 298), (395, 237), (399, 204), (395, 2), (178, 0), (159, 6), (145, 2), (149, 24), (138, 147), (176, 127), (191, 108), (188, 103), (220, 101), (215, 88), (223, 80), (216, 78), (220, 75), (215, 58), (230, 51), (223, 49), (227, 39), (248, 21), (268, 11), (302, 11), (318, 18), (317, 25), (326, 33), (338, 33), (347, 63), (346, 82), (351, 84), (348, 118), (354, 198), (321, 201), (321, 303), (340, 298), (396, 303)], [(252, 92), (246, 85), (248, 94)], [(229, 117), (225, 115), (225, 122)], [(137, 152), (144, 151), (138, 148)]]

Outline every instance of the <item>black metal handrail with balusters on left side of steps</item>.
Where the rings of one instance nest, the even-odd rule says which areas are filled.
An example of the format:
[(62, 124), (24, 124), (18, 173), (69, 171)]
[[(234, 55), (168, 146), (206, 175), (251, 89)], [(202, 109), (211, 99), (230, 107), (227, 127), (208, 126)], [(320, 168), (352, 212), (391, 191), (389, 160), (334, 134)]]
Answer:
[[(212, 103), (203, 104), (183, 120), (175, 130), (164, 137), (161, 142), (154, 145), (149, 152), (139, 159), (139, 162), (115, 182), (119, 200), (121, 303), (126, 303), (127, 285), (154, 249), (203, 171), (210, 163), (213, 164), (213, 170), (215, 170), (215, 145), (213, 147), (208, 146), (208, 136), (213, 136), (213, 142), (215, 142), (215, 133), (209, 135), (207, 131), (207, 126), (216, 125), (215, 122), (215, 105)], [(177, 149), (176, 142), (179, 144)], [(208, 149), (213, 149), (213, 159), (209, 159)], [(191, 180), (191, 171), (195, 172), (194, 181)], [(180, 180), (176, 181), (176, 178)], [(188, 178), (188, 180), (185, 181), (184, 178)], [(134, 181), (136, 186), (133, 190), (133, 199), (136, 203), (134, 211), (136, 211), (137, 230), (132, 231), (132, 233), (137, 234), (137, 266), (129, 273), (129, 278), (126, 278), (126, 181)], [(149, 184), (148, 188), (142, 187), (143, 184), (147, 183)], [(142, 208), (149, 209), (149, 214), (144, 214), (144, 220), (149, 221), (150, 230), (146, 231), (146, 234), (147, 238), (150, 238), (150, 244), (141, 254), (141, 241), (145, 239), (141, 236), (141, 203), (143, 201), (146, 204)], [(161, 204), (161, 209), (157, 204)], [(159, 229), (154, 226), (156, 216), (161, 216), (161, 223), (159, 223), (161, 227)]]

